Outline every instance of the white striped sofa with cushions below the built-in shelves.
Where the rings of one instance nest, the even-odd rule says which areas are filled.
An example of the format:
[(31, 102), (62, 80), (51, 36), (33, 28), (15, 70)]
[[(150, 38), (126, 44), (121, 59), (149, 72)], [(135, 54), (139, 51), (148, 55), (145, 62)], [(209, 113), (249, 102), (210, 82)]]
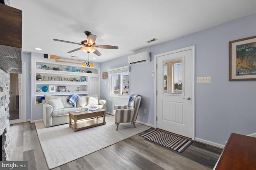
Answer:
[(68, 96), (44, 95), (43, 121), (46, 127), (69, 123), (69, 111), (78, 111), (92, 106), (106, 109), (106, 100), (98, 100), (95, 96), (82, 96), (73, 107), (67, 102)]

